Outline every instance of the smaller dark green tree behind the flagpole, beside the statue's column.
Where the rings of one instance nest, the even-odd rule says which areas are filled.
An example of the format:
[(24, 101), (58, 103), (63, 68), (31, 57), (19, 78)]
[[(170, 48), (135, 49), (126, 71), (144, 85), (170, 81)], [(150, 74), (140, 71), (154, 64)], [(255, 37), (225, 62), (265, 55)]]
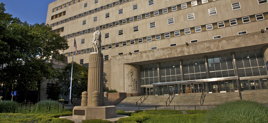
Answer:
[[(72, 63), (69, 63), (67, 66), (61, 69), (61, 72), (58, 76), (59, 80), (62, 79), (62, 77), (69, 76), (69, 81), (65, 85), (66, 93), (70, 92), (69, 87), (70, 87), (71, 69), (72, 69)], [(87, 88), (88, 88), (88, 68), (74, 62), (71, 100), (72, 98), (81, 98), (82, 92), (87, 91)]]

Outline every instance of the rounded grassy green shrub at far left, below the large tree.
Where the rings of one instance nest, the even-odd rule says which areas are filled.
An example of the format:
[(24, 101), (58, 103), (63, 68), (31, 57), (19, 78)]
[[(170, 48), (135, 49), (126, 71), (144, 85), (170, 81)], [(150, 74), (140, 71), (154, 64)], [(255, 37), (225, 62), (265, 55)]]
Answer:
[(0, 113), (14, 113), (18, 106), (15, 101), (0, 101)]

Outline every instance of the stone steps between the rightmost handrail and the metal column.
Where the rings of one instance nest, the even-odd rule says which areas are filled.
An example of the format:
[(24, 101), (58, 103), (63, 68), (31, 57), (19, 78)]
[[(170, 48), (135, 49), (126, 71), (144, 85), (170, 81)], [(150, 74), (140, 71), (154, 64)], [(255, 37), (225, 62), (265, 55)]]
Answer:
[(235, 100), (240, 100), (238, 92), (206, 93), (203, 105), (220, 105)]

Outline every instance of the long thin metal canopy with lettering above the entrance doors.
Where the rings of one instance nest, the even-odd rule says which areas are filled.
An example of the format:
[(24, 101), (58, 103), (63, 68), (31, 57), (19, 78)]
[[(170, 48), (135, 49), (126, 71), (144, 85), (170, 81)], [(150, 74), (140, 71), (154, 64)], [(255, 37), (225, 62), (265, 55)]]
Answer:
[(153, 83), (153, 86), (174, 85), (174, 84), (186, 84), (186, 83), (199, 83), (199, 82), (210, 82), (210, 81), (225, 81), (225, 80), (237, 80), (237, 79), (238, 79), (238, 76), (232, 76), (232, 77), (199, 79), (199, 80), (189, 80), (189, 81), (173, 81), (173, 82)]

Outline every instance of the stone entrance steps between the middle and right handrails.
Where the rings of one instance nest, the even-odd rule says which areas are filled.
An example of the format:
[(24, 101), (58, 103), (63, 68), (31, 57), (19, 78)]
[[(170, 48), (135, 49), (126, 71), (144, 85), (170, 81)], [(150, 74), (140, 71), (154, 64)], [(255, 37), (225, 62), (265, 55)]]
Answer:
[(182, 94), (182, 95), (175, 95), (173, 100), (171, 101), (170, 105), (200, 105), (200, 97), (201, 94)]

